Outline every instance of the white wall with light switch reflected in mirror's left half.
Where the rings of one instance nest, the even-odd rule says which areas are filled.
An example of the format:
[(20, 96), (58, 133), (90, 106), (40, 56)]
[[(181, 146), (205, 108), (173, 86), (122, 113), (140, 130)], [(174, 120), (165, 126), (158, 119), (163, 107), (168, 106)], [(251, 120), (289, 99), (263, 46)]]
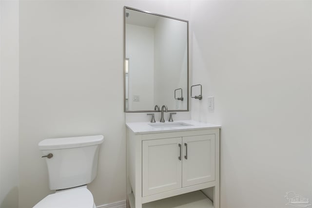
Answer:
[[(154, 28), (126, 24), (129, 110), (154, 109)], [(134, 95), (139, 101), (134, 101)]]

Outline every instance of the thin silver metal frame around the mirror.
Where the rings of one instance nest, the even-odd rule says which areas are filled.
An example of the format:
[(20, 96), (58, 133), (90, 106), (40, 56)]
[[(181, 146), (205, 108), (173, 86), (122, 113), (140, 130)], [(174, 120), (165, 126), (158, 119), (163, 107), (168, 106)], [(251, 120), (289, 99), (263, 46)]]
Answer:
[[(123, 110), (125, 113), (145, 113), (145, 112), (158, 112), (155, 110), (145, 110), (145, 111), (127, 111), (126, 110), (126, 9), (135, 10), (138, 12), (148, 13), (152, 15), (157, 15), (164, 18), (176, 19), (179, 21), (184, 21), (187, 23), (187, 110), (168, 110), (168, 112), (187, 112), (190, 110), (190, 99), (189, 99), (189, 21), (184, 19), (177, 19), (165, 15), (160, 15), (140, 9), (135, 9), (132, 7), (124, 6), (123, 7)], [(158, 105), (166, 105), (165, 103), (159, 103)]]

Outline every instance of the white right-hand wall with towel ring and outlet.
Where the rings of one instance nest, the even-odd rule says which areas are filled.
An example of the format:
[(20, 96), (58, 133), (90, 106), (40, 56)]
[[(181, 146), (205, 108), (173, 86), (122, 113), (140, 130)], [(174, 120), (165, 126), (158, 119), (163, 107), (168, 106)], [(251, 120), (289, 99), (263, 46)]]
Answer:
[[(312, 200), (311, 1), (192, 1), (192, 119), (221, 130), (221, 207)], [(215, 111), (207, 97), (215, 96)]]

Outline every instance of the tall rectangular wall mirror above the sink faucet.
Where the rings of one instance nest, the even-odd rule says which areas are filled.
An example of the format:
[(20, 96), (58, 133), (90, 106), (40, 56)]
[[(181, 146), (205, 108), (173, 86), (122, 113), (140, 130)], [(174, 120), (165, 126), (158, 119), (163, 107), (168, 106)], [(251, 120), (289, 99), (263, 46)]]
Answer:
[(189, 110), (189, 22), (124, 7), (124, 111)]

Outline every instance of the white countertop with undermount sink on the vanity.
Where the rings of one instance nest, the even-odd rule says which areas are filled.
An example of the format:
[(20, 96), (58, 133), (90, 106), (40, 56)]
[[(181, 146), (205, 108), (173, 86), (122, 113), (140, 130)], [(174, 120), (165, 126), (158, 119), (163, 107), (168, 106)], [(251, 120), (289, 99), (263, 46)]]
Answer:
[[(168, 121), (165, 124), (169, 123)], [(220, 129), (220, 125), (210, 124), (210, 123), (201, 123), (198, 121), (192, 120), (182, 120), (170, 122), (169, 124), (175, 123), (186, 123), (190, 126), (180, 126), (180, 127), (161, 127), (155, 128), (150, 126), (149, 124), (161, 125), (164, 123), (160, 123), (159, 121), (156, 123), (151, 122), (127, 122), (126, 126), (135, 134), (147, 134), (147, 133), (161, 133), (161, 132), (177, 132), (177, 131), (192, 131), (192, 130), (208, 130), (208, 129)]]

